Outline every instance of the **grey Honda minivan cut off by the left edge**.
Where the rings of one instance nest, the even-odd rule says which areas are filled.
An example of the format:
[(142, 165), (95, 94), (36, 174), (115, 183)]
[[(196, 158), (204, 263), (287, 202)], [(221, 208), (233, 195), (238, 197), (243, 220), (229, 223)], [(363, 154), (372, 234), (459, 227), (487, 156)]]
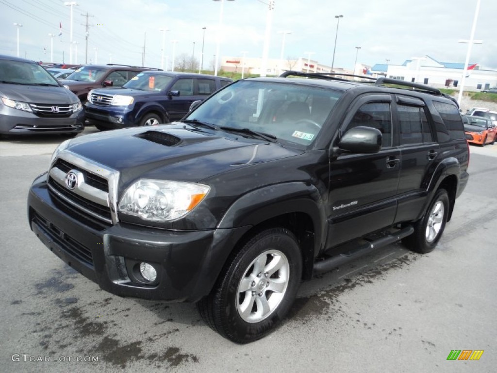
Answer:
[(0, 55), (0, 135), (84, 129), (78, 97), (34, 61)]

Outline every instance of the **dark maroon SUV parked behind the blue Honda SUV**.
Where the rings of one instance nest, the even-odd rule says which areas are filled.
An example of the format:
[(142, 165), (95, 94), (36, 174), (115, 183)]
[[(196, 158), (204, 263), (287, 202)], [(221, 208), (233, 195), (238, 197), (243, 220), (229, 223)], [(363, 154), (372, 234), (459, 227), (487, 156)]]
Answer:
[(85, 65), (60, 82), (76, 94), (84, 104), (90, 90), (102, 87), (121, 87), (136, 74), (147, 70), (161, 69), (116, 64)]

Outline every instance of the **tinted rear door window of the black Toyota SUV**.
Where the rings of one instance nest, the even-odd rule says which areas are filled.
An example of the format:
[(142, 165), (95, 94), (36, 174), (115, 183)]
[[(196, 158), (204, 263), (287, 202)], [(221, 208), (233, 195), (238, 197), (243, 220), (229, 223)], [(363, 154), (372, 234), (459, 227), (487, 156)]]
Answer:
[(401, 145), (433, 141), (423, 107), (398, 105), (397, 108)]

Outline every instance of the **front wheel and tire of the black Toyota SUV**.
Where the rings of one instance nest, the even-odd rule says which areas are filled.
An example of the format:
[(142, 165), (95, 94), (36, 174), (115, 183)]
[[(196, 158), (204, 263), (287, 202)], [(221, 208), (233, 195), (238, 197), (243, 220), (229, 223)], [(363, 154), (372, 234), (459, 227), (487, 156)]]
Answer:
[(243, 245), (197, 307), (223, 337), (249, 343), (270, 333), (285, 317), (301, 276), (295, 236), (284, 228), (267, 229)]

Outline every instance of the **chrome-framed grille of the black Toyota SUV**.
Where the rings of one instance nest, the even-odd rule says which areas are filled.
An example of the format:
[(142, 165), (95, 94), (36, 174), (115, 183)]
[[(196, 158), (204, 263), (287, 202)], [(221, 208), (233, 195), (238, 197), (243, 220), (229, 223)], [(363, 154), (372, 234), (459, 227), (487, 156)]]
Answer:
[[(81, 159), (71, 152), (63, 153), (49, 172), (48, 187), (52, 196), (76, 207), (88, 217), (107, 224), (116, 223), (114, 194), (118, 173)], [(71, 175), (73, 177), (76, 175), (76, 184), (66, 182), (66, 179), (70, 179), (67, 178), (68, 174), (74, 174)]]

